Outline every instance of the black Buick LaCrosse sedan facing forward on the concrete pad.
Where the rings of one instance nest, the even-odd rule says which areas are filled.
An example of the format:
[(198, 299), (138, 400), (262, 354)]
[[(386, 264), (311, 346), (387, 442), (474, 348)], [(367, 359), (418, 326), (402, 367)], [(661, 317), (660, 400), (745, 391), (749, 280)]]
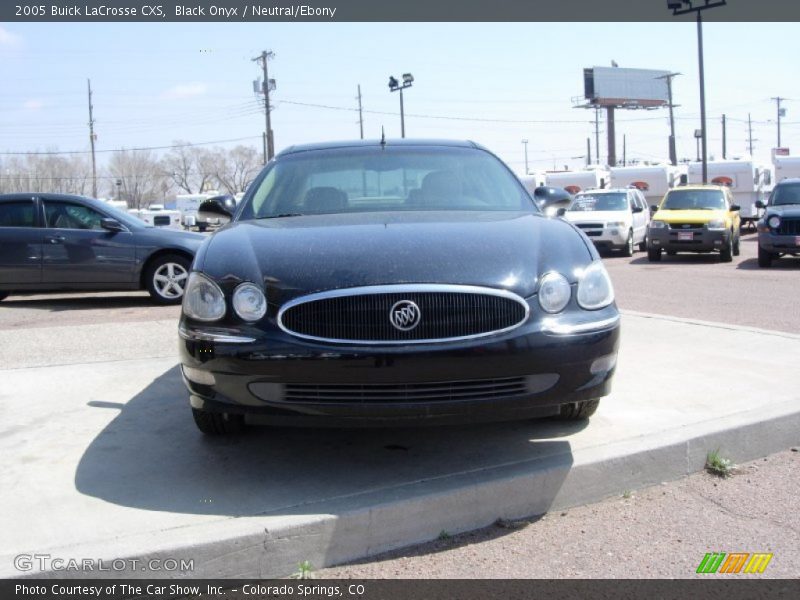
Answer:
[(290, 148), (195, 258), (179, 333), (194, 420), (582, 419), (619, 314), (588, 239), (470, 142)]

